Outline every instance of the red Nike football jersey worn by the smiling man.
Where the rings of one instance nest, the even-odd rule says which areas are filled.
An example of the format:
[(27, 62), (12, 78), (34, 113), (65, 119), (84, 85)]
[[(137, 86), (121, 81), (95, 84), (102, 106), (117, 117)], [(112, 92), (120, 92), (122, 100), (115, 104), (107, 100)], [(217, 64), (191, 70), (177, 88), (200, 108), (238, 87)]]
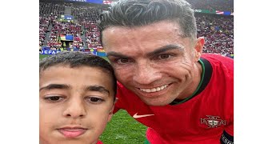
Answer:
[(148, 126), (146, 138), (150, 144), (220, 143), (224, 130), (233, 136), (234, 61), (219, 54), (202, 54), (201, 59), (205, 86), (193, 98), (176, 105), (148, 106), (118, 83), (114, 112), (124, 109)]

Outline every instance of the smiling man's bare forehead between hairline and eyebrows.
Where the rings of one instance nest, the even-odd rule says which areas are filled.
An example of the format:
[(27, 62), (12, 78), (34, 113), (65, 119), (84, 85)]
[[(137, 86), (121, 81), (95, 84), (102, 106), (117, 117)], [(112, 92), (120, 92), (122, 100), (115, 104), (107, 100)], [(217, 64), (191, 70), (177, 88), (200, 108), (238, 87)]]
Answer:
[(111, 26), (102, 31), (102, 45), (123, 46), (122, 44), (134, 42), (147, 42), (151, 45), (155, 41), (174, 40), (182, 38), (182, 31), (176, 22), (156, 22), (147, 26), (124, 27)]

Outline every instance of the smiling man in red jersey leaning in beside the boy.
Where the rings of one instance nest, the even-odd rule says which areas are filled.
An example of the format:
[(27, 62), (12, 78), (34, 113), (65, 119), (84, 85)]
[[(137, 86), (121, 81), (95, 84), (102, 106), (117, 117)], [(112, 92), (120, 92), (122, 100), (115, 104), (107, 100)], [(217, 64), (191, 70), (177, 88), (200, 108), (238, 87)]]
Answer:
[(202, 54), (189, 3), (121, 0), (98, 26), (118, 79), (114, 111), (148, 126), (146, 141), (233, 142), (233, 59)]

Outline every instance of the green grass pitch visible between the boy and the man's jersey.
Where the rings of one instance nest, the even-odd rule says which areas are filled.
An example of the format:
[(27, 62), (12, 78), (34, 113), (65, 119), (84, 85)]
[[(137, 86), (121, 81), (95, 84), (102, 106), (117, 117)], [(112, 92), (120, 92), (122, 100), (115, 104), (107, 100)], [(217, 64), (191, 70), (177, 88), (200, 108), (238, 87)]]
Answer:
[[(46, 56), (48, 55), (39, 54), (39, 58)], [(107, 60), (106, 57), (105, 59)], [(107, 124), (100, 140), (104, 144), (143, 144), (145, 132), (146, 126), (130, 117), (126, 110), (119, 110)]]

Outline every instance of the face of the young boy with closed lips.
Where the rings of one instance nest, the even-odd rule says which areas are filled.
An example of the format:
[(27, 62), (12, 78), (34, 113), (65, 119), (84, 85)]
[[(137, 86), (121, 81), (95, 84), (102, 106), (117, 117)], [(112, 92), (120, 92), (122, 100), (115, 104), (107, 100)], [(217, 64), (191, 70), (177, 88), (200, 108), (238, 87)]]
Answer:
[(114, 108), (112, 79), (99, 68), (51, 66), (42, 71), (40, 143), (98, 141)]

